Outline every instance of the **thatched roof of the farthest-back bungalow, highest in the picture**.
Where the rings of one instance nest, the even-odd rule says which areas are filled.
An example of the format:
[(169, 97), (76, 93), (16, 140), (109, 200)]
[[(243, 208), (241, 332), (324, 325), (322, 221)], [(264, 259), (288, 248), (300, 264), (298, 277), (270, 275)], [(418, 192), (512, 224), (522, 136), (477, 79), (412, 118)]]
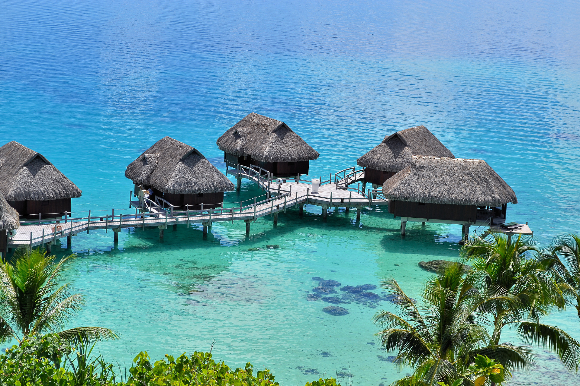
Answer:
[(234, 156), (252, 156), (262, 162), (316, 160), (318, 152), (284, 122), (249, 113), (216, 141), (220, 150)]

